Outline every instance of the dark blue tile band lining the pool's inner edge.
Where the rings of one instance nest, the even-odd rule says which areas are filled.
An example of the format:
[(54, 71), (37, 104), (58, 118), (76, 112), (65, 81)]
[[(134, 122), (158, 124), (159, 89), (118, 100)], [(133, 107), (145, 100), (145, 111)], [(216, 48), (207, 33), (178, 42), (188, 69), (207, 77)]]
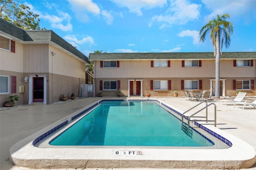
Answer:
[[(73, 116), (71, 118), (71, 120), (73, 121), (74, 119), (80, 117), (82, 114), (84, 114), (85, 112), (89, 111), (90, 109), (92, 109), (93, 107), (97, 106), (97, 105), (100, 105), (100, 103), (104, 102), (104, 101), (145, 101), (145, 100), (141, 100), (141, 99), (124, 99), (124, 100), (118, 100), (118, 99), (104, 99), (104, 100), (100, 100), (99, 102), (95, 103), (94, 105), (86, 108), (84, 111), (78, 113), (77, 115)], [(158, 101), (158, 100), (148, 100), (148, 101), (154, 101), (154, 102), (157, 102), (158, 104), (160, 105), (163, 105), (164, 107), (170, 109), (171, 111), (173, 111), (174, 113), (182, 116), (182, 114), (174, 109), (172, 109), (171, 107), (169, 107), (168, 105), (165, 105), (164, 103)], [(38, 138), (36, 138), (32, 144), (33, 146), (35, 146), (38, 142), (40, 142), (41, 140), (43, 140), (44, 138), (46, 138), (48, 135), (52, 134), (53, 132), (55, 132), (56, 130), (58, 130), (59, 128), (62, 128), (64, 127), (65, 125), (67, 125), (69, 122), (68, 120), (67, 121), (64, 121), (63, 123), (61, 123), (60, 125), (52, 128), (51, 130), (49, 130), (48, 132), (42, 134), (41, 136), (39, 136)], [(217, 134), (216, 132), (208, 129), (207, 127), (204, 127), (203, 125), (201, 125), (200, 123), (197, 123), (196, 121), (194, 122), (194, 125), (202, 128), (204, 131), (208, 132), (209, 134), (211, 134), (212, 136), (218, 138), (219, 140), (221, 140), (222, 142), (226, 143), (228, 146), (232, 146), (232, 142), (230, 142), (228, 139), (224, 138), (223, 136)], [(198, 134), (200, 134), (201, 136), (203, 136), (204, 138), (206, 138), (204, 135), (202, 135), (200, 132), (198, 132), (196, 129), (193, 128), (193, 130), (195, 130)], [(57, 136), (56, 136), (57, 137)], [(54, 138), (55, 139), (55, 138)], [(52, 139), (52, 140), (54, 140)], [(212, 141), (208, 138), (206, 138), (209, 142), (212, 143)]]

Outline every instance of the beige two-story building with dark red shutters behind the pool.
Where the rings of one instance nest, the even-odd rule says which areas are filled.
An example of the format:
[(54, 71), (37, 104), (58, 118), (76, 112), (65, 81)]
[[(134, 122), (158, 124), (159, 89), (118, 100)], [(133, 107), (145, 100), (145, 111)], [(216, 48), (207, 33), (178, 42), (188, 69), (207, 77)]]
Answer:
[[(141, 96), (157, 92), (160, 97), (184, 90), (211, 91), (215, 95), (213, 52), (90, 53), (94, 63), (96, 94)], [(223, 52), (220, 56), (220, 96), (236, 90), (255, 96), (256, 52)], [(95, 94), (95, 95), (96, 95)], [(156, 96), (156, 94), (153, 94)]]

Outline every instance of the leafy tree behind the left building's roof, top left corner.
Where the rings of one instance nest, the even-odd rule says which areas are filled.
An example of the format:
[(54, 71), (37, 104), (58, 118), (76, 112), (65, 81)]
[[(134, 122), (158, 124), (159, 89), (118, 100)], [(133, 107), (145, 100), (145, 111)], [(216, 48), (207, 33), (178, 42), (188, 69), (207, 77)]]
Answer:
[(18, 0), (0, 0), (0, 17), (24, 30), (40, 30), (39, 15)]

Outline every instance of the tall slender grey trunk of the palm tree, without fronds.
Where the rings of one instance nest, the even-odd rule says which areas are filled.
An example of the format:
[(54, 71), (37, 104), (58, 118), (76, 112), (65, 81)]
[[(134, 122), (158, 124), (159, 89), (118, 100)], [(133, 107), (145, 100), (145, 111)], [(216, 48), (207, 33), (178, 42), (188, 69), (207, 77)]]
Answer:
[(220, 98), (220, 32), (216, 34), (215, 98)]

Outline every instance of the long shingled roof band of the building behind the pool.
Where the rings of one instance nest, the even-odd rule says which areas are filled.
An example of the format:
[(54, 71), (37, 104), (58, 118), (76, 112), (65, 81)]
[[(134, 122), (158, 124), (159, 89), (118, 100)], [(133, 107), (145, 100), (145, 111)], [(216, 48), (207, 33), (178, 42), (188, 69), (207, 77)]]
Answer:
[[(96, 60), (153, 60), (153, 59), (214, 59), (213, 52), (178, 53), (90, 53), (90, 61)], [(256, 59), (256, 52), (223, 52), (220, 59)]]

